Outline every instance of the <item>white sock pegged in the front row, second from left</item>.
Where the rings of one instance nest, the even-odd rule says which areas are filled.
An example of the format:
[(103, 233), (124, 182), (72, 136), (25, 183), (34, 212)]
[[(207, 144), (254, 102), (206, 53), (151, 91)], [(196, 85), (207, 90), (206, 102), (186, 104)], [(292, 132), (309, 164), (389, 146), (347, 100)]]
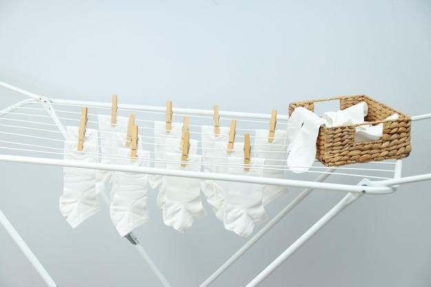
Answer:
[[(136, 159), (130, 158), (130, 149), (119, 149), (117, 164), (133, 167), (149, 167), (149, 151), (137, 150)], [(147, 211), (148, 175), (115, 171), (112, 178), (112, 202), (110, 215), (120, 236), (149, 221)]]

